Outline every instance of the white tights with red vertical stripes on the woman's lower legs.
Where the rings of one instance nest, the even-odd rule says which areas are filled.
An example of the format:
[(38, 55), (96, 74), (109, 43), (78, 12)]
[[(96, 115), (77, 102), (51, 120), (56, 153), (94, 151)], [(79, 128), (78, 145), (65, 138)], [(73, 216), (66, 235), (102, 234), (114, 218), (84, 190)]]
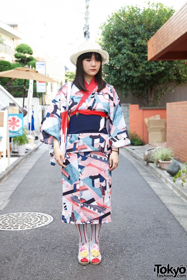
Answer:
[[(88, 236), (87, 236), (87, 224), (77, 224), (76, 225), (77, 231), (79, 233), (79, 241), (82, 244), (85, 244), (88, 242)], [(92, 240), (92, 242), (94, 244), (99, 242), (99, 231), (101, 228), (101, 224), (94, 224), (91, 225), (91, 236), (90, 236), (90, 240)]]

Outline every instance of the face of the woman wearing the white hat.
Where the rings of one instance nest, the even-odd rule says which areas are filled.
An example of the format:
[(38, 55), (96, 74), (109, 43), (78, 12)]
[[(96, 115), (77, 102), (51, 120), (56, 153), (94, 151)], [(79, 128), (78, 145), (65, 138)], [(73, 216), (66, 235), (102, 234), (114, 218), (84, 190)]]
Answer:
[(88, 80), (92, 79), (98, 73), (100, 66), (101, 62), (95, 59), (94, 54), (91, 58), (85, 58), (83, 60), (84, 78)]

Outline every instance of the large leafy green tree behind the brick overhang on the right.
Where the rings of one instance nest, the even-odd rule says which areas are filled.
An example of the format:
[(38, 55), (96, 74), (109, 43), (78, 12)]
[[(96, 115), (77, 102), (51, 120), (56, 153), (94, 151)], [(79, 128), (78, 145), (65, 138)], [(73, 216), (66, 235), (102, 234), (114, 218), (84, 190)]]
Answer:
[[(157, 105), (168, 81), (187, 82), (184, 61), (147, 61), (147, 41), (175, 11), (161, 3), (125, 6), (101, 26), (100, 44), (110, 54), (105, 79), (123, 95), (131, 91), (145, 105)], [(130, 26), (129, 26), (130, 25)]]

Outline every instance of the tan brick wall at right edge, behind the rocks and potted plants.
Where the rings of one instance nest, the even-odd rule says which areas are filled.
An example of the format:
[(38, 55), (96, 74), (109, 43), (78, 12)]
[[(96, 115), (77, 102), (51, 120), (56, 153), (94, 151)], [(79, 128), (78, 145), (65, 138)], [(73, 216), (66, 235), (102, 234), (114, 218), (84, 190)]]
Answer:
[(167, 146), (175, 150), (177, 160), (187, 161), (187, 101), (166, 104)]

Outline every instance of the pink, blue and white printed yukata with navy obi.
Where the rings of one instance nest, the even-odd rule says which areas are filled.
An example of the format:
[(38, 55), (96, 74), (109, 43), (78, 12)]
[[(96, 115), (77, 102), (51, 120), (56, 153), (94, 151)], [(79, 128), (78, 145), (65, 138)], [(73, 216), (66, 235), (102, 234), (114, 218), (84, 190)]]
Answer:
[[(100, 92), (94, 78), (89, 85), (85, 82), (88, 91), (80, 91), (73, 83), (71, 86), (66, 167), (62, 168), (62, 222), (108, 223), (111, 222), (109, 156), (112, 148), (130, 145), (122, 108), (116, 91), (108, 84)], [(53, 138), (60, 143), (64, 139), (60, 113), (66, 110), (66, 95), (67, 83), (52, 101), (41, 127), (41, 142), (51, 145), (52, 166), (56, 164)], [(88, 110), (89, 115), (80, 114), (81, 110)], [(76, 115), (72, 115), (75, 111)], [(106, 117), (95, 115), (101, 112)]]

